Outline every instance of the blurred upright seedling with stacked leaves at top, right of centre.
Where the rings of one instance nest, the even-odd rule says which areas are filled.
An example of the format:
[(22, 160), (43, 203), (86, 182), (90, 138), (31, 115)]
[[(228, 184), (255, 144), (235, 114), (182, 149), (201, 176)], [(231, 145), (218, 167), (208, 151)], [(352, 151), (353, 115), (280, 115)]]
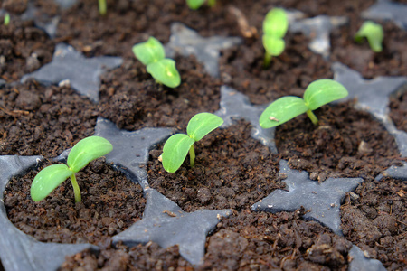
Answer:
[(271, 9), (263, 21), (264, 67), (270, 66), (273, 56), (279, 56), (286, 47), (283, 38), (289, 29), (289, 19), (282, 8)]

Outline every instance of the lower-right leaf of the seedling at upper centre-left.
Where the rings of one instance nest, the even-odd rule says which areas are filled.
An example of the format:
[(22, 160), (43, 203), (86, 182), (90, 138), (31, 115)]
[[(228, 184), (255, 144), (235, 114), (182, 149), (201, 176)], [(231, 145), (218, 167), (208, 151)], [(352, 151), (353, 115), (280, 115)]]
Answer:
[(147, 65), (147, 72), (156, 79), (157, 82), (169, 88), (176, 88), (181, 84), (181, 77), (175, 67), (175, 61), (164, 59)]

